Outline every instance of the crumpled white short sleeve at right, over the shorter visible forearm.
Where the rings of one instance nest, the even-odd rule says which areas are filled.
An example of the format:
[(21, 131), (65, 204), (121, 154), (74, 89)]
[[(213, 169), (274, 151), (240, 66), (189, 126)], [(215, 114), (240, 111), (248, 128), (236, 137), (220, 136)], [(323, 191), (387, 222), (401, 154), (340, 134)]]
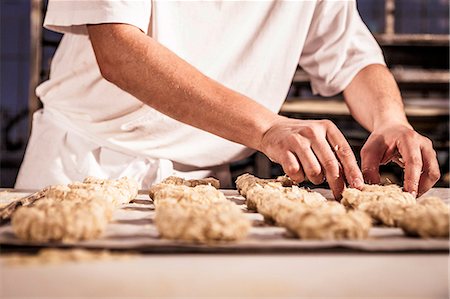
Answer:
[(342, 92), (370, 64), (385, 65), (383, 53), (361, 20), (355, 1), (318, 2), (300, 56), (314, 94)]

